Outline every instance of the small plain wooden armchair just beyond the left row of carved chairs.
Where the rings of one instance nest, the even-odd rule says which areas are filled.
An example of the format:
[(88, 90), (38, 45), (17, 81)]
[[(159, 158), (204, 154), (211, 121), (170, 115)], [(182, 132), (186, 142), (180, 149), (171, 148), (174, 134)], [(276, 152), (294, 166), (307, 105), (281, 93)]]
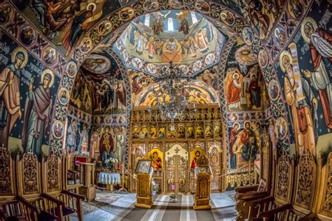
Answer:
[(62, 174), (64, 190), (75, 192), (78, 194), (78, 189), (81, 187), (80, 172), (75, 169), (75, 155), (74, 153), (62, 155)]

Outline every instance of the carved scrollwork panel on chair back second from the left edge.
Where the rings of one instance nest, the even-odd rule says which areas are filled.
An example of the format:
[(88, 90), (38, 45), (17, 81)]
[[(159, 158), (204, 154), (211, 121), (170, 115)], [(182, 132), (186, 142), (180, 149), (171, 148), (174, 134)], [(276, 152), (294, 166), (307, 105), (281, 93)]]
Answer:
[(33, 193), (38, 189), (37, 181), (37, 156), (32, 152), (27, 152), (23, 155), (23, 187), (25, 193)]

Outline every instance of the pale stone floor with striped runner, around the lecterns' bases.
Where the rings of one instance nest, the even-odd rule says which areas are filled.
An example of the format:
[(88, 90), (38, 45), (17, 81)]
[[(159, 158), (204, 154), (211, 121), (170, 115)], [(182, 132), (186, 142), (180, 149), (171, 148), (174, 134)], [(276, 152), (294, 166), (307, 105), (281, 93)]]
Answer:
[[(235, 201), (229, 195), (235, 192), (213, 193), (209, 211), (193, 210), (193, 195), (181, 195), (177, 204), (170, 203), (168, 195), (159, 195), (154, 199), (150, 210), (134, 208), (136, 194), (117, 194), (116, 201), (111, 204), (93, 207), (90, 213), (84, 215), (84, 220), (235, 220)], [(97, 198), (114, 196), (106, 192), (97, 192)], [(94, 202), (90, 203), (93, 205)], [(71, 220), (78, 220), (71, 217)]]

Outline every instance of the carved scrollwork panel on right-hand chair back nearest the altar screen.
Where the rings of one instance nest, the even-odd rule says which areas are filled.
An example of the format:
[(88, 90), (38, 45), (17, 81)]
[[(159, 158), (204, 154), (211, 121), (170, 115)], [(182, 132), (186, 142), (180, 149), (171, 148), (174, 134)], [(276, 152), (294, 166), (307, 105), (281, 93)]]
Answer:
[(277, 195), (286, 198), (289, 191), (289, 158), (286, 155), (279, 157), (278, 167)]

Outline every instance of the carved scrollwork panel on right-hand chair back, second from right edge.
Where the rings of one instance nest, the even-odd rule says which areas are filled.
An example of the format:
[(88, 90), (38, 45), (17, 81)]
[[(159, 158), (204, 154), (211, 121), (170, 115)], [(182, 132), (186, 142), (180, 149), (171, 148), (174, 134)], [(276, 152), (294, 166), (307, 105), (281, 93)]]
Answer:
[(296, 203), (309, 206), (312, 187), (314, 185), (314, 158), (309, 152), (305, 152), (298, 164), (298, 191), (296, 193)]

